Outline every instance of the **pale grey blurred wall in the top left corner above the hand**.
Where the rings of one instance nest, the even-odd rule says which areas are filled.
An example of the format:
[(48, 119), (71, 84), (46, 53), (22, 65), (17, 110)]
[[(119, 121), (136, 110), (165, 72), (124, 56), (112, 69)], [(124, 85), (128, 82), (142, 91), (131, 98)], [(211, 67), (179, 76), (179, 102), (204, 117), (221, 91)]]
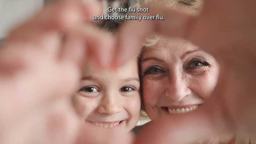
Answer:
[(44, 0), (0, 0), (0, 39), (10, 29), (30, 18), (44, 5)]

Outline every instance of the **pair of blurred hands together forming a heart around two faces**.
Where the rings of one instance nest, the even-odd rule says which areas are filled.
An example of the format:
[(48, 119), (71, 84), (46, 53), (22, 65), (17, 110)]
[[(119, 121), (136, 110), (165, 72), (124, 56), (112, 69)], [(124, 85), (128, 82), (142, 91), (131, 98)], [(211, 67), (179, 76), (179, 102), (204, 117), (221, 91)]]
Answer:
[[(4, 94), (0, 108), (4, 109), (1, 117), (6, 117), (0, 125), (6, 130), (1, 143), (72, 143), (79, 130), (80, 143), (95, 142), (90, 139), (93, 135), (102, 135), (98, 143), (131, 143), (130, 135), (122, 135), (123, 139), (117, 133), (104, 137), (103, 131), (91, 132), (90, 125), (81, 126), (67, 101), (77, 86), (79, 67), (85, 58), (95, 59), (101, 67), (122, 65), (140, 51), (140, 43), (153, 33), (178, 36), (199, 45), (217, 58), (221, 73), (213, 96), (204, 106), (179, 118), (159, 119), (148, 125), (135, 143), (194, 143), (236, 130), (255, 134), (255, 116), (246, 115), (253, 114), (256, 101), (251, 86), (256, 22), (251, 18), (256, 14), (256, 2), (250, 3), (254, 4), (209, 0), (201, 15), (151, 5), (147, 15), (161, 14), (164, 21), (128, 21), (116, 39), (86, 24), (100, 12), (99, 4), (65, 1), (46, 7), (10, 33), (0, 54), (0, 87)], [(78, 27), (84, 23), (86, 27), (81, 32)], [(11, 107), (13, 102), (15, 108)], [(37, 127), (35, 122), (45, 125)]]

